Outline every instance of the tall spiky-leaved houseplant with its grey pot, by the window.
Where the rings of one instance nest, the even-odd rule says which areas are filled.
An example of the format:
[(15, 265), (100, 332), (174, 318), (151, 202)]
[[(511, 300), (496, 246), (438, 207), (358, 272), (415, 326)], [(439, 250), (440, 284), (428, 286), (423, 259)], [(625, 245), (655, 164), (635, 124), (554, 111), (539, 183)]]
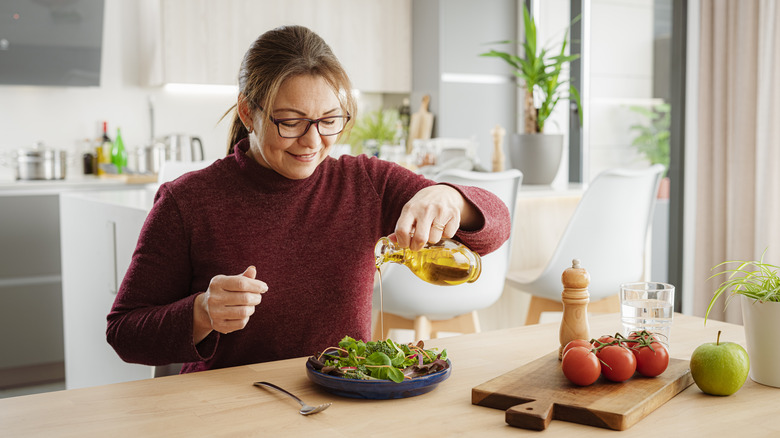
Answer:
[[(563, 67), (579, 58), (579, 55), (566, 54), (568, 29), (557, 53), (540, 46), (537, 43), (536, 23), (531, 19), (525, 4), (523, 28), (523, 56), (497, 50), (490, 50), (480, 56), (506, 61), (519, 79), (518, 86), (525, 89), (524, 133), (510, 137), (509, 158), (512, 166), (523, 172), (523, 182), (526, 184), (550, 184), (558, 173), (563, 156), (563, 135), (544, 134), (545, 122), (560, 101), (569, 99), (573, 99), (577, 104), (580, 123), (582, 122), (579, 92), (568, 80), (560, 78)], [(501, 41), (497, 44), (513, 43)]]

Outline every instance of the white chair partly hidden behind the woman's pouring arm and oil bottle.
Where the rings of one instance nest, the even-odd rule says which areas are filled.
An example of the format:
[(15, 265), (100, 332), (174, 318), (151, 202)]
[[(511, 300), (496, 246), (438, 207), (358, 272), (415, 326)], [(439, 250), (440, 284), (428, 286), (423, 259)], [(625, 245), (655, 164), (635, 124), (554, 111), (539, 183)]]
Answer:
[[(434, 180), (487, 189), (507, 204), (511, 216), (522, 177), (517, 169), (495, 173), (450, 169), (438, 174)], [(476, 311), (489, 307), (501, 296), (510, 248), (507, 241), (498, 250), (482, 257), (479, 279), (458, 286), (431, 285), (405, 266), (385, 265), (382, 270), (384, 333), (377, 323), (374, 339), (385, 339), (392, 329), (413, 329), (415, 340), (431, 339), (439, 332), (479, 332)], [(380, 308), (378, 285), (374, 287), (374, 308)]]

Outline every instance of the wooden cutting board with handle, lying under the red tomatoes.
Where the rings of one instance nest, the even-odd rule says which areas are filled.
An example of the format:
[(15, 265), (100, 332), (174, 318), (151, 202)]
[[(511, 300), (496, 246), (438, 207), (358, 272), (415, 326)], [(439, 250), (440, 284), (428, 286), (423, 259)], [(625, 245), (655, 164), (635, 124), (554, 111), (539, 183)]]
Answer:
[(600, 377), (581, 387), (563, 375), (555, 351), (473, 388), (471, 403), (504, 409), (506, 422), (523, 429), (544, 430), (556, 419), (625, 430), (693, 383), (688, 362), (671, 359), (658, 377)]

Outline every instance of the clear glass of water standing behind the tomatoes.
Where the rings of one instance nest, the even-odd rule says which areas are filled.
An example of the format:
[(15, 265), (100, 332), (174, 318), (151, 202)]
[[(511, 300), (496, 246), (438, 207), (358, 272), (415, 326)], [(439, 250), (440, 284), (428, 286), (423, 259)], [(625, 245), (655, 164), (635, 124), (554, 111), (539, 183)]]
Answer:
[(669, 348), (669, 332), (674, 316), (674, 286), (658, 282), (620, 285), (620, 318), (623, 334), (647, 330)]

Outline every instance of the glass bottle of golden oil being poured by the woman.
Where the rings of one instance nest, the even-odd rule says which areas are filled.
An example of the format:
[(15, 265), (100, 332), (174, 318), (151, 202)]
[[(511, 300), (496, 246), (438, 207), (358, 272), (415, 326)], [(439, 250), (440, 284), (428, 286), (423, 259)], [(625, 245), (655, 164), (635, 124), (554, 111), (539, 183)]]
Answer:
[(473, 283), (482, 272), (479, 254), (446, 238), (414, 251), (382, 237), (374, 247), (374, 256), (377, 269), (388, 262), (402, 264), (422, 280), (440, 286)]

